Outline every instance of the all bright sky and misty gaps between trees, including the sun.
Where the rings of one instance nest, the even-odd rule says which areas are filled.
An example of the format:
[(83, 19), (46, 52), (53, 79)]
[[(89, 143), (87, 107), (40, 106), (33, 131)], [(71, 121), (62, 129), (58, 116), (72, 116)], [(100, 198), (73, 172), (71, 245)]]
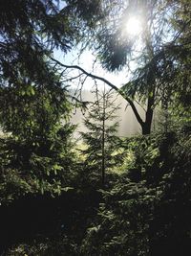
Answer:
[[(135, 17), (132, 17), (124, 25), (125, 33), (127, 33), (130, 36), (131, 35), (134, 36), (136, 35), (135, 33), (139, 33), (139, 30), (140, 30), (139, 26), (140, 24), (138, 24), (138, 19), (136, 19)], [(120, 87), (121, 85), (123, 85), (124, 83), (130, 80), (130, 72), (127, 69), (123, 69), (122, 71), (116, 72), (116, 73), (107, 72), (101, 67), (98, 61), (96, 61), (96, 64), (94, 65), (94, 70), (93, 70), (93, 64), (96, 59), (94, 54), (91, 51), (86, 50), (80, 55), (79, 58), (77, 58), (79, 52), (80, 52), (79, 48), (72, 50), (68, 54), (62, 53), (60, 50), (57, 50), (57, 51), (54, 51), (53, 57), (58, 59), (61, 63), (67, 64), (67, 65), (78, 65), (82, 67), (84, 70), (86, 70), (87, 72), (112, 82), (117, 87)], [(134, 69), (134, 67), (135, 67), (135, 63), (132, 62), (131, 69)], [(70, 73), (70, 75), (72, 77), (75, 77), (78, 75), (78, 71), (74, 70), (72, 73)], [(71, 88), (73, 89), (77, 88), (77, 83), (78, 83), (77, 80), (72, 81), (70, 83)], [(94, 84), (95, 83), (94, 81), (92, 81), (91, 78), (88, 78), (84, 82), (83, 93), (82, 93), (83, 101), (87, 101), (91, 99), (92, 96), (89, 94), (89, 92), (93, 89)], [(104, 86), (103, 82), (101, 81), (97, 81), (97, 85), (99, 89), (102, 89)], [(108, 88), (110, 87), (108, 86)], [(127, 102), (124, 99), (122, 99), (121, 96), (119, 96), (118, 98), (118, 103), (121, 104), (121, 109), (120, 111), (118, 111), (118, 118), (120, 121), (119, 135), (126, 136), (129, 134), (138, 133), (140, 131), (140, 128), (131, 107), (126, 107)], [(142, 112), (142, 109), (140, 109), (138, 105), (137, 107), (138, 107), (138, 112), (140, 112), (143, 115), (144, 113)], [(72, 122), (74, 124), (78, 124), (78, 130), (84, 129), (82, 124), (83, 117), (84, 116), (82, 115), (80, 109), (78, 109), (72, 118)]]

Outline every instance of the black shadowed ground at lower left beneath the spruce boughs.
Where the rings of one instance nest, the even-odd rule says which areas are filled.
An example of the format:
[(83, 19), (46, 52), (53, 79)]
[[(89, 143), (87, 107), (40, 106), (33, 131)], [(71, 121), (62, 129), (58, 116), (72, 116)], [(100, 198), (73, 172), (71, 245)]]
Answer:
[(95, 191), (87, 195), (68, 192), (58, 198), (36, 195), (14, 200), (9, 206), (1, 205), (0, 255), (13, 244), (85, 231), (99, 200)]

